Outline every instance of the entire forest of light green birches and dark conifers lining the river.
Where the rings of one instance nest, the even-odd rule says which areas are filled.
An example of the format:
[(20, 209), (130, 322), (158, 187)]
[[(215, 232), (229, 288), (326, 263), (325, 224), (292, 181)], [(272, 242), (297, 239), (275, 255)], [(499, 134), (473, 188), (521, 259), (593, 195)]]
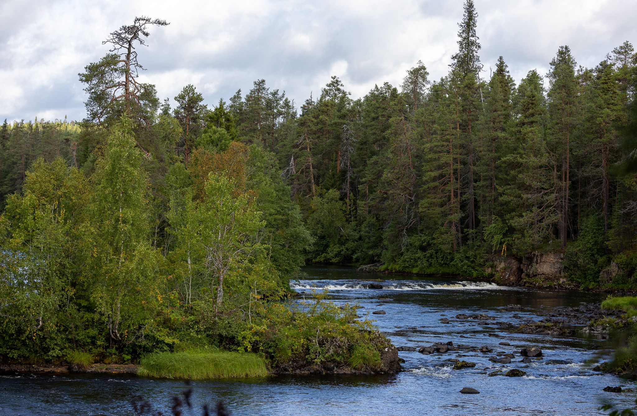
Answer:
[(487, 76), (477, 17), (466, 1), (440, 80), (419, 61), (353, 99), (332, 76), (298, 108), (265, 80), (161, 101), (135, 47), (168, 23), (111, 33), (79, 74), (85, 119), (1, 127), (0, 355), (127, 360), (207, 337), (287, 357), (289, 310), (268, 299), (308, 263), (490, 278), (502, 257), (555, 251), (582, 289), (612, 262), (606, 284), (635, 287), (633, 45), (594, 68), (559, 47), (516, 85), (503, 57)]

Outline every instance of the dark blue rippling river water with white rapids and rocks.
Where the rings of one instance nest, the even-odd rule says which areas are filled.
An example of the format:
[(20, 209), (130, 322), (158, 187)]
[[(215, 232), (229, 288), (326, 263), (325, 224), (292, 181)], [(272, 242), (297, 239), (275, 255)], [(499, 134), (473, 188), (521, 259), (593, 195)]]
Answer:
[[(375, 319), (394, 345), (420, 347), (453, 341), (494, 352), (515, 354), (511, 364), (489, 362), (491, 354), (450, 352), (423, 355), (399, 352), (406, 362), (397, 375), (279, 376), (262, 379), (192, 382), (192, 413), (203, 403), (224, 401), (231, 415), (603, 415), (602, 403), (634, 408), (636, 393), (602, 391), (606, 385), (637, 384), (592, 371), (589, 359), (608, 360), (608, 341), (585, 336), (554, 337), (511, 334), (493, 324), (539, 320), (533, 315), (554, 306), (579, 306), (601, 301), (594, 293), (501, 287), (458, 278), (422, 278), (356, 273), (331, 266), (305, 268), (307, 280), (291, 286), (310, 296), (311, 289), (328, 289), (335, 303), (359, 303), (359, 315)], [(389, 279), (388, 279), (389, 277)], [(367, 289), (371, 279), (383, 289)], [(379, 301), (379, 298), (390, 300)], [(506, 305), (522, 305), (522, 311)], [(373, 315), (384, 310), (385, 315)], [(495, 316), (489, 325), (455, 319), (459, 313)], [(518, 317), (513, 315), (517, 313)], [(442, 324), (441, 318), (448, 318)], [(497, 336), (488, 336), (497, 334)], [(499, 345), (508, 341), (511, 346)], [(522, 368), (520, 348), (537, 346), (544, 359)], [(600, 349), (601, 346), (601, 349)], [(459, 355), (466, 355), (459, 357)], [(601, 355), (601, 356), (600, 356)], [(455, 358), (475, 362), (476, 368), (452, 370)], [(569, 364), (546, 364), (562, 359)], [(521, 368), (524, 377), (489, 377), (497, 369)], [(480, 394), (460, 394), (473, 387)], [(130, 400), (142, 396), (157, 410), (169, 412), (169, 397), (185, 389), (183, 382), (130, 376), (0, 375), (0, 415), (131, 415)]]

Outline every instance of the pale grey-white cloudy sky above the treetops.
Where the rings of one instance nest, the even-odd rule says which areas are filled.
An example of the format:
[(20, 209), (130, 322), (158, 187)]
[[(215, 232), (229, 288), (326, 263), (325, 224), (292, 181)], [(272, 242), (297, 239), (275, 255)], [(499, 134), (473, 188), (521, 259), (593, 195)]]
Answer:
[[(475, 0), (489, 77), (499, 55), (519, 81), (541, 74), (560, 45), (592, 67), (624, 41), (637, 43), (634, 0)], [(352, 97), (398, 85), (421, 60), (431, 79), (456, 50), (462, 0), (0, 0), (0, 120), (85, 115), (77, 74), (108, 50), (109, 32), (135, 16), (152, 27), (140, 63), (161, 99), (194, 84), (209, 106), (264, 78), (296, 103), (331, 75)], [(174, 101), (172, 102), (174, 104)]]

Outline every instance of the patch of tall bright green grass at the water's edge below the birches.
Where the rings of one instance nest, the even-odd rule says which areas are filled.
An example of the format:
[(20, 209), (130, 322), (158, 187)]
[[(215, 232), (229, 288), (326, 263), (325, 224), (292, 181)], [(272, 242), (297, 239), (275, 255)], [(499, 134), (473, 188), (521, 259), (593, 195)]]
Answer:
[(139, 375), (162, 378), (263, 377), (266, 361), (256, 354), (229, 351), (184, 351), (150, 354), (141, 359)]

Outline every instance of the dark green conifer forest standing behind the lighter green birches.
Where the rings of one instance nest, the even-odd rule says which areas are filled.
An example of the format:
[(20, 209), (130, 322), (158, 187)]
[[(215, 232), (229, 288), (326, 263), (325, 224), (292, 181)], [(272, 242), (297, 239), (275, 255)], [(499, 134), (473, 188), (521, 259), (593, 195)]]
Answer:
[(88, 97), (81, 122), (5, 120), (0, 208), (22, 192), (38, 159), (61, 157), (92, 175), (127, 114), (149, 181), (146, 238), (164, 257), (177, 241), (177, 190), (196, 199), (208, 173), (245, 164), (247, 188), (265, 183), (259, 175), (269, 183), (258, 207), (287, 278), (303, 262), (485, 276), (503, 255), (555, 250), (573, 282), (592, 287), (615, 261), (632, 284), (633, 45), (594, 68), (559, 47), (547, 74), (531, 69), (516, 85), (504, 57), (493, 71), (480, 63), (477, 17), (466, 1), (458, 52), (440, 80), (419, 61), (401, 85), (353, 99), (333, 76), (300, 108), (265, 80), (215, 105), (194, 85), (162, 102), (154, 85), (136, 81), (136, 56), (122, 66), (113, 52), (80, 74)]

